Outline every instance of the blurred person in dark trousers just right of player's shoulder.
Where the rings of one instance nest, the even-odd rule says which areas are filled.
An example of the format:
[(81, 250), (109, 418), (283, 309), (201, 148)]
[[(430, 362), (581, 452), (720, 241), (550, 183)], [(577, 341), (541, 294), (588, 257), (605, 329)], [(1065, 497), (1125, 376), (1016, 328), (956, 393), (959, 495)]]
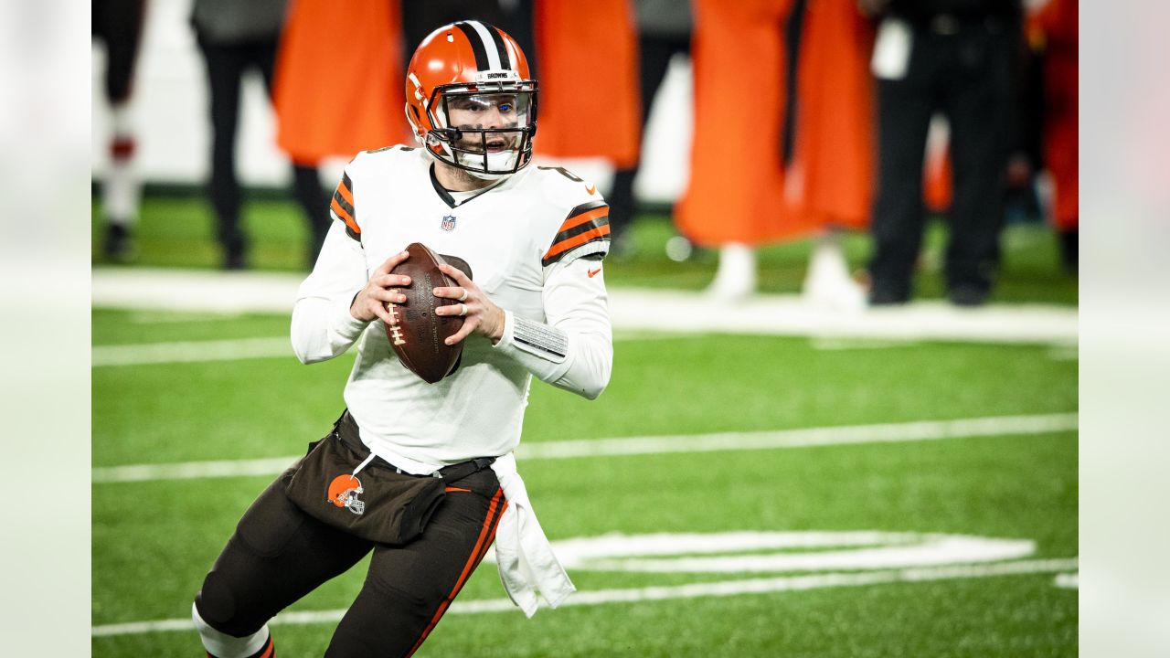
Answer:
[[(641, 109), (639, 142), (651, 116), (652, 103), (670, 60), (675, 55), (690, 57), (691, 19), (689, 0), (634, 0), (638, 28), (638, 104)], [(613, 174), (613, 185), (606, 200), (610, 201), (610, 231), (612, 245), (610, 258), (632, 255), (633, 241), (628, 234), (636, 199), (634, 179), (638, 178), (640, 160), (632, 166), (619, 167)]]

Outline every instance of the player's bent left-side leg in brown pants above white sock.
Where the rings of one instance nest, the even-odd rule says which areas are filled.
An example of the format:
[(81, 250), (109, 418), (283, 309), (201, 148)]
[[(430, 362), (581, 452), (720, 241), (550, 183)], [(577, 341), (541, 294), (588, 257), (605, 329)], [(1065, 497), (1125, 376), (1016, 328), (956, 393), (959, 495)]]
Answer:
[(245, 512), (195, 595), (192, 612), (205, 649), (215, 658), (266, 656), (268, 619), (371, 546), (302, 512), (277, 478)]

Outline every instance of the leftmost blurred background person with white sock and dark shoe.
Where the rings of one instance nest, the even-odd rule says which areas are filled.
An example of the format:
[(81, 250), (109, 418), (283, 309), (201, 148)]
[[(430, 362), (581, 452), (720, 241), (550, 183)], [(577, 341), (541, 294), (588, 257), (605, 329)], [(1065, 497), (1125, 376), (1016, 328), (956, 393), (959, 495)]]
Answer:
[(132, 232), (142, 201), (135, 169), (137, 149), (131, 108), (145, 0), (94, 0), (91, 33), (105, 50), (103, 92), (110, 104), (110, 160), (102, 179), (102, 253), (112, 261), (133, 256)]

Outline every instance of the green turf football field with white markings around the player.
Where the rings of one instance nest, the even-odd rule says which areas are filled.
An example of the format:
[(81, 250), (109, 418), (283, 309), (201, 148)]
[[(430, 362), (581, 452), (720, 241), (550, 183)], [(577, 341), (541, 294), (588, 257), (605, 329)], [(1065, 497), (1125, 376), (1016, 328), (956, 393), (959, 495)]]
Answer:
[[(198, 226), (152, 203), (143, 262), (209, 267), (184, 247)], [(638, 235), (656, 254), (668, 234)], [(798, 287), (806, 254), (766, 254), (765, 288)], [(1006, 260), (999, 301), (1075, 303), (1045, 232), (1012, 232)], [(608, 276), (695, 288), (709, 266), (652, 254)], [(166, 345), (280, 341), (288, 322), (94, 310), (95, 657), (201, 654), (202, 576), (281, 460), (328, 431), (352, 363)], [(115, 347), (145, 356), (113, 364)], [(518, 455), (578, 592), (526, 619), (484, 562), (418, 656), (1076, 654), (1075, 349), (619, 331), (614, 352), (596, 402), (534, 383)], [(364, 568), (274, 622), (282, 658), (324, 652)]]

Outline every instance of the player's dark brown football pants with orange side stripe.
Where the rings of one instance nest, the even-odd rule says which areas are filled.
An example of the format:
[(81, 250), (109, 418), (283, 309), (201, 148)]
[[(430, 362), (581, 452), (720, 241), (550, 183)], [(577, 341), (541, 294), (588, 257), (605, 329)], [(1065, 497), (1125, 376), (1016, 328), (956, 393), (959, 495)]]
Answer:
[(326, 658), (411, 656), (434, 629), (495, 539), (507, 507), (495, 472), (456, 482), (422, 536), (405, 546), (370, 542), (302, 512), (277, 478), (243, 514), (202, 589), (199, 615), (245, 637), (373, 550), (360, 594), (345, 612)]

